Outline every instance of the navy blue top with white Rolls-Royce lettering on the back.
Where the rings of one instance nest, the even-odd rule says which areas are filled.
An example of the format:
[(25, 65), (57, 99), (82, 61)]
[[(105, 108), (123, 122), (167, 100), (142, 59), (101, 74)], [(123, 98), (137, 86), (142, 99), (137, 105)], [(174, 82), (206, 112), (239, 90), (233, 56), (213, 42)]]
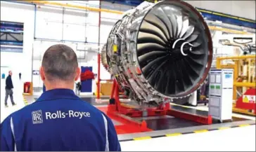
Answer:
[(1, 151), (121, 151), (110, 118), (68, 89), (12, 113), (0, 135)]

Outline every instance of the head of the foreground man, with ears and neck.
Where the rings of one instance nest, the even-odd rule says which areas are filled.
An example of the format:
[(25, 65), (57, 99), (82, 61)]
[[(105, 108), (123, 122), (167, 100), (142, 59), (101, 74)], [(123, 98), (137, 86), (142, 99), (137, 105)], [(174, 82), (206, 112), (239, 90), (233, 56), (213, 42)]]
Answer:
[(77, 55), (69, 46), (58, 44), (51, 46), (44, 53), (40, 76), (46, 90), (54, 88), (73, 88), (79, 78)]

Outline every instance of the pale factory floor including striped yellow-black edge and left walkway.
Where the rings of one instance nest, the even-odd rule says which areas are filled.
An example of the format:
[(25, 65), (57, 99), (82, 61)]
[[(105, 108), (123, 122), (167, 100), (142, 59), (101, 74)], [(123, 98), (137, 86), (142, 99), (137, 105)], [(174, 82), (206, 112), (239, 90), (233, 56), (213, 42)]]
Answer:
[[(4, 83), (3, 79), (1, 79), (1, 84)], [(17, 105), (11, 106), (11, 101), (8, 99), (8, 108), (4, 107), (5, 90), (4, 85), (1, 85), (1, 122), (10, 113), (37, 99), (37, 96), (27, 96), (24, 99), (21, 93), (23, 92), (21, 81), (13, 81), (13, 83), (15, 84), (13, 96)], [(105, 102), (98, 104), (94, 102), (94, 98), (87, 97), (86, 99), (92, 99), (87, 102), (96, 104), (95, 106), (99, 109), (105, 107)], [(191, 108), (207, 111), (207, 106), (203, 104), (202, 106)], [(189, 110), (192, 111), (191, 109)], [(121, 132), (118, 137), (122, 151), (255, 151), (255, 125), (253, 125), (255, 124), (255, 117), (236, 113), (233, 113), (233, 117), (238, 118), (238, 120), (232, 123), (217, 123), (213, 125), (198, 125), (193, 122), (189, 122), (188, 125), (188, 122), (168, 117), (166, 119), (168, 122), (169, 120), (174, 120), (174, 123), (182, 121), (181, 124), (186, 124), (183, 124), (184, 126), (180, 128), (171, 124), (167, 126), (174, 126), (173, 128), (160, 129), (155, 129), (160, 127), (158, 126), (158, 123), (161, 122), (160, 119), (148, 118), (148, 122), (151, 122), (151, 128), (153, 128), (150, 132)], [(113, 120), (113, 122), (115, 125), (122, 125), (118, 121)]]

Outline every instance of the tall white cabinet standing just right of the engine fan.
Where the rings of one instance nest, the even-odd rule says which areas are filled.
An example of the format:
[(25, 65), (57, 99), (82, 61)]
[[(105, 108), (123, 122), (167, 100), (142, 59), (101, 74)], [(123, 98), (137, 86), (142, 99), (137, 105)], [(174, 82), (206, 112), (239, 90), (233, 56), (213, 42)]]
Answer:
[(233, 69), (211, 69), (209, 114), (220, 122), (232, 120)]

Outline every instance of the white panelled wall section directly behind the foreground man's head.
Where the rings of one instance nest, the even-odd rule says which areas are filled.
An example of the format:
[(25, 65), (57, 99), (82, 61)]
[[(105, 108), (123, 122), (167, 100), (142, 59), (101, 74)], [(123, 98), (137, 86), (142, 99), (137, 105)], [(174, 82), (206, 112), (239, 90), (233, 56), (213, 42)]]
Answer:
[[(79, 59), (79, 66), (92, 66), (93, 72), (98, 74), (98, 12), (79, 11), (74, 9), (65, 8), (52, 8), (48, 6), (37, 8), (36, 20), (36, 37), (40, 39), (54, 39), (54, 40), (68, 40), (72, 43), (66, 42), (65, 44), (71, 46), (73, 50), (79, 50), (84, 47), (92, 48), (95, 52), (87, 51), (86, 58)], [(108, 19), (104, 19), (109, 24)], [(63, 24), (64, 23), (64, 24)], [(104, 23), (104, 22), (103, 22)], [(111, 21), (110, 21), (111, 24)], [(100, 43), (105, 43), (110, 30), (115, 24), (112, 25), (101, 24), (101, 39)], [(85, 41), (90, 44), (80, 43)], [(34, 60), (41, 60), (44, 51), (49, 46), (60, 42), (47, 42), (47, 41), (34, 41)], [(76, 51), (77, 56), (84, 56), (84, 52)], [(82, 54), (81, 54), (82, 53)], [(81, 54), (81, 55), (80, 55)], [(33, 65), (34, 70), (39, 70), (41, 61), (36, 61), (37, 64)], [(39, 76), (33, 76), (34, 87), (41, 87), (42, 82)], [(101, 79), (110, 79), (110, 74), (101, 65)], [(39, 80), (39, 81), (37, 81)], [(96, 83), (93, 81), (92, 90), (96, 90)]]

